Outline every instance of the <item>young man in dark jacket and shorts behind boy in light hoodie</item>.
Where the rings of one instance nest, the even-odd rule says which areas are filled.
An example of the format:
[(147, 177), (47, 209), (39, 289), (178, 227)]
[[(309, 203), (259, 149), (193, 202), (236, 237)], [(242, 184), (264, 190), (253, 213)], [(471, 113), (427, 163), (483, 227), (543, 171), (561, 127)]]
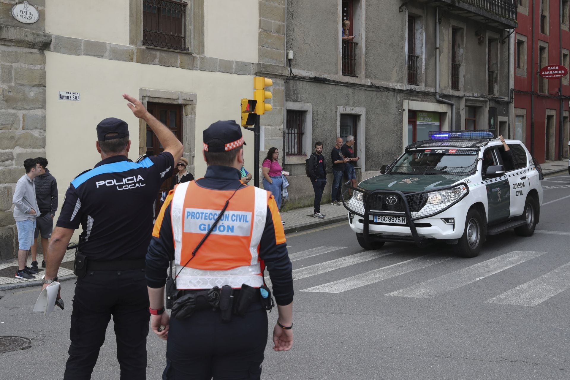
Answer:
[(55, 211), (58, 210), (58, 182), (47, 169), (47, 160), (44, 157), (38, 157), (39, 166), (45, 171), (45, 174), (38, 175), (34, 185), (36, 189), (36, 199), (38, 201), (39, 215), (36, 218), (36, 228), (34, 233), (34, 244), (32, 245), (32, 265), (31, 272), (38, 273), (38, 261), (36, 254), (38, 253), (38, 235), (42, 234), (42, 252), (44, 260), (42, 268), (46, 267), (47, 244), (50, 242), (51, 232), (54, 229)]

